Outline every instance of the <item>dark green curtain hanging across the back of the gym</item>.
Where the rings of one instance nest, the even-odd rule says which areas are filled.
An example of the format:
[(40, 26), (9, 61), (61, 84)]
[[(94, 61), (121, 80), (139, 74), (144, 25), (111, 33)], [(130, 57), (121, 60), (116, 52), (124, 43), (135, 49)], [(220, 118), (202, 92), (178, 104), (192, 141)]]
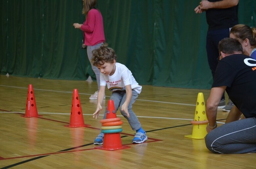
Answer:
[[(140, 84), (209, 89), (205, 13), (200, 0), (98, 0), (106, 42)], [(239, 2), (239, 23), (255, 26), (256, 0)], [(81, 0), (0, 1), (0, 73), (85, 80), (94, 76)]]

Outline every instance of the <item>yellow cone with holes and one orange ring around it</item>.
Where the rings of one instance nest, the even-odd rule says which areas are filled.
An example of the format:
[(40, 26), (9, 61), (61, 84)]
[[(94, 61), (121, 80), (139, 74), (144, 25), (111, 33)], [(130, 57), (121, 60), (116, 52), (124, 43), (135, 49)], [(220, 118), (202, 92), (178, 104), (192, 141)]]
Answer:
[(208, 124), (206, 109), (205, 109), (205, 99), (203, 93), (198, 93), (196, 102), (196, 111), (194, 120), (191, 121), (193, 124), (192, 135), (187, 135), (185, 137), (191, 139), (204, 139), (207, 135), (206, 127)]

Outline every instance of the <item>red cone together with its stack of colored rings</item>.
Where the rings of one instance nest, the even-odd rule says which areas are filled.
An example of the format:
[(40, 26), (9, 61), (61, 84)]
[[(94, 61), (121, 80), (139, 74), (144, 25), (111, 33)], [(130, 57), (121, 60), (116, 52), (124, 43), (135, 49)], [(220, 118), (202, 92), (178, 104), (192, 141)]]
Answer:
[(106, 119), (101, 120), (102, 130), (104, 133), (103, 146), (95, 147), (102, 150), (119, 150), (130, 148), (130, 146), (122, 145), (120, 132), (123, 130), (120, 125), (123, 124), (120, 118), (116, 117), (115, 105), (113, 100), (108, 100)]

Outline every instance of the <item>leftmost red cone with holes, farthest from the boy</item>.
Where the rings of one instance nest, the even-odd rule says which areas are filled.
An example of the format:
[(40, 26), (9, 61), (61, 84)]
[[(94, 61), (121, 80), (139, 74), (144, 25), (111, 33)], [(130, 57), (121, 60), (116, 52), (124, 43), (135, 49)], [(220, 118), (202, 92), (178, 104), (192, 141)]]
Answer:
[(42, 115), (37, 114), (33, 86), (32, 84), (29, 84), (26, 111), (25, 111), (25, 115), (22, 115), (22, 117), (38, 117), (38, 116), (42, 116)]

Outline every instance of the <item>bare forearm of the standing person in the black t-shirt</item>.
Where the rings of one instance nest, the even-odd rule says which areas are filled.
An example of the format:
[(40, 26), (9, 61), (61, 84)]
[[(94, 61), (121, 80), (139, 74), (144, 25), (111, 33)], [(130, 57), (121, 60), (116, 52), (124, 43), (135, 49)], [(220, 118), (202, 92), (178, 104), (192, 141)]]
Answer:
[(238, 4), (239, 0), (222, 0), (216, 2), (209, 2), (207, 0), (202, 0), (200, 2), (200, 8), (203, 10), (207, 10), (210, 8), (231, 8)]

